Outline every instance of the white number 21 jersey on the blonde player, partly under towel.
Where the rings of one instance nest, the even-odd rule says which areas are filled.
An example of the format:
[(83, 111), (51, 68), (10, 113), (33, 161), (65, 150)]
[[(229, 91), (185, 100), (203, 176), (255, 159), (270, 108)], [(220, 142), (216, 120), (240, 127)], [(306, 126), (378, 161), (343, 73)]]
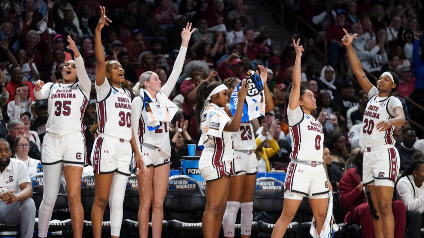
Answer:
[[(156, 99), (152, 98), (152, 100)], [(170, 154), (171, 144), (169, 140), (169, 124), (167, 122), (160, 122), (159, 128), (149, 131), (147, 127), (147, 112), (144, 108), (143, 99), (140, 96), (135, 97), (132, 105), (134, 106), (133, 112), (139, 112), (140, 115), (138, 120), (138, 139), (140, 143), (151, 144)], [(156, 106), (161, 106), (159, 105), (159, 101), (156, 101)], [(137, 110), (135, 110), (136, 108)]]

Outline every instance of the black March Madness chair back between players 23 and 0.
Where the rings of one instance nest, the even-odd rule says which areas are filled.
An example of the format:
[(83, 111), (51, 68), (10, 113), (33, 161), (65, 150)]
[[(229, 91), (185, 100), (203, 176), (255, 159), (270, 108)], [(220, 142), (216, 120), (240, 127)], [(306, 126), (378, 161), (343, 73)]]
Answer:
[(284, 182), (272, 177), (261, 177), (256, 180), (253, 208), (257, 213), (279, 215), (283, 210), (283, 202)]

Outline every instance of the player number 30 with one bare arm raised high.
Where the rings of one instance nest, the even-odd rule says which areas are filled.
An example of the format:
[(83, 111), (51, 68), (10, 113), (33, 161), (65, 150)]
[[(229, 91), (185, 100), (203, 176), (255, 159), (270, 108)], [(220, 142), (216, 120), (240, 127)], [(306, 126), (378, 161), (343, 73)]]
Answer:
[(93, 235), (100, 238), (103, 212), (109, 200), (111, 236), (119, 237), (123, 201), (128, 175), (131, 171), (131, 148), (135, 154), (137, 174), (147, 171), (139, 155), (131, 130), (131, 94), (121, 87), (125, 80), (122, 65), (114, 60), (105, 62), (101, 29), (112, 22), (100, 7), (101, 17), (96, 27), (95, 56), (97, 116), (99, 136), (94, 141), (91, 162), (94, 171), (95, 196), (91, 211)]

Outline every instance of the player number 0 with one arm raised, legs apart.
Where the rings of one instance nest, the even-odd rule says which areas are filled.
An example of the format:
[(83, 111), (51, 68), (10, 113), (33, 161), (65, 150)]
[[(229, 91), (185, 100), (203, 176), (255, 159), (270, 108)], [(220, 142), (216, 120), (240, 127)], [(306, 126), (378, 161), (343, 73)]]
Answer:
[(287, 90), (290, 92), (287, 116), (293, 152), (287, 168), (283, 210), (271, 238), (283, 237), (305, 195), (309, 196), (318, 234), (327, 214), (330, 183), (322, 159), (324, 133), (321, 123), (311, 115), (311, 111), (317, 108), (314, 94), (301, 86), (300, 66), (304, 49), (299, 46), (299, 41), (296, 43), (293, 39), (296, 62), (293, 83)]

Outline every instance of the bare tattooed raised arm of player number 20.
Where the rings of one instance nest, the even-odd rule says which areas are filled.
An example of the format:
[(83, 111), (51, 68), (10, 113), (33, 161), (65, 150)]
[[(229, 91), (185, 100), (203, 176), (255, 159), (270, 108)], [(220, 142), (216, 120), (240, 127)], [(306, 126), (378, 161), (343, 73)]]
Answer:
[(347, 33), (347, 31), (344, 28), (343, 28), (343, 31), (345, 32), (346, 35), (343, 36), (342, 43), (343, 45), (346, 46), (350, 65), (352, 66), (352, 71), (355, 74), (359, 84), (361, 85), (362, 90), (364, 90), (364, 92), (368, 95), (368, 92), (371, 90), (373, 85), (368, 80), (367, 76), (365, 76), (364, 70), (362, 69), (361, 62), (359, 61), (352, 47), (352, 41), (358, 34), (355, 33), (353, 36), (351, 36), (349, 35), (349, 33)]

